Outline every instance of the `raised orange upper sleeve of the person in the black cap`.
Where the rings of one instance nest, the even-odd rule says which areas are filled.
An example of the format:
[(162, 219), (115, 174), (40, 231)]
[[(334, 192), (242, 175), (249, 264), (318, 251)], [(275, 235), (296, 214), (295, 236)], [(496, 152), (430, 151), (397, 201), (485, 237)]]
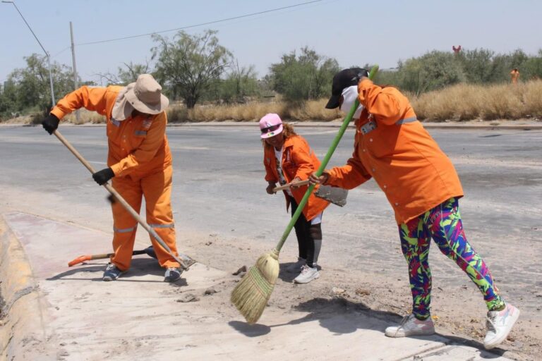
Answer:
[(369, 79), (358, 84), (359, 102), (377, 121), (387, 126), (397, 123), (406, 113), (409, 102), (394, 87), (379, 87)]

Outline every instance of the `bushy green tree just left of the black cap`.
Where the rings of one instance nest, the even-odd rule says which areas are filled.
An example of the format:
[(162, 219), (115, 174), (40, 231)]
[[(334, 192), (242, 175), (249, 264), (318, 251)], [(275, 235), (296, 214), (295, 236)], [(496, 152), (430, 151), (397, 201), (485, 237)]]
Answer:
[(273, 90), (289, 101), (302, 101), (326, 97), (330, 92), (333, 75), (339, 71), (335, 59), (327, 58), (308, 47), (283, 54), (280, 63), (270, 66)]

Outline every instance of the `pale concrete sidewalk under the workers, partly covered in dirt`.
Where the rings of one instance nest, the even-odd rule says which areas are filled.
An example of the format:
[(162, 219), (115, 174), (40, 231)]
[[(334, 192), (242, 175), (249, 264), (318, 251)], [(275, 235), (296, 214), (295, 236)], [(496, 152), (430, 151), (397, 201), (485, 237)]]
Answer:
[[(107, 252), (109, 235), (20, 212), (3, 214), (0, 231), (6, 360), (508, 360), (438, 335), (387, 338), (371, 310), (268, 307), (251, 326), (229, 304), (236, 277), (225, 271), (195, 264), (168, 284), (154, 259), (137, 256), (106, 283), (107, 260), (67, 262), (85, 248)], [(210, 287), (219, 291), (205, 295)]]

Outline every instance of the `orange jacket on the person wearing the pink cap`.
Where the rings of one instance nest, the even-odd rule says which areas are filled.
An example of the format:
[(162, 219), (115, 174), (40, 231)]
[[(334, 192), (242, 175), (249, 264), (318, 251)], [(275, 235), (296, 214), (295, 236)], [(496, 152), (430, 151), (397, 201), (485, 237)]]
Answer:
[[(279, 173), (277, 171), (277, 160), (273, 147), (264, 147), (263, 164), (265, 166), (265, 181), (277, 183), (279, 181)], [(318, 170), (319, 166), (320, 161), (311, 147), (308, 146), (305, 138), (301, 137), (301, 135), (292, 135), (284, 140), (281, 168), (284, 178), (288, 183), (296, 177), (301, 179), (301, 181), (305, 181), (308, 179), (308, 176)], [(294, 196), (297, 204), (303, 199), (307, 188), (307, 185), (303, 185), (302, 187), (291, 189), (291, 194)], [(284, 196), (286, 197), (286, 209), (288, 209), (290, 206), (290, 197), (286, 191), (284, 191)], [(315, 216), (318, 216), (329, 204), (329, 202), (311, 194), (308, 197), (306, 206), (303, 208), (303, 215), (310, 221)]]

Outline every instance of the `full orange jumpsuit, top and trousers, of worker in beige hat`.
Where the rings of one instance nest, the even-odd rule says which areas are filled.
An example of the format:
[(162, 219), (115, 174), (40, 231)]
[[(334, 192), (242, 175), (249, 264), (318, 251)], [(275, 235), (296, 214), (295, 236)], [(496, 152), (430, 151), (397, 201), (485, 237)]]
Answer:
[[(171, 212), (171, 152), (166, 136), (165, 111), (152, 116), (136, 116), (124, 121), (112, 118), (115, 99), (123, 87), (80, 87), (67, 94), (51, 111), (61, 119), (85, 107), (107, 118), (109, 152), (107, 166), (115, 173), (113, 188), (140, 211), (145, 197), (147, 224), (154, 228), (172, 252), (177, 255), (173, 213)], [(116, 202), (112, 205), (114, 221), (111, 262), (122, 271), (130, 268), (138, 221)], [(162, 267), (180, 267), (164, 248), (150, 237)]]

